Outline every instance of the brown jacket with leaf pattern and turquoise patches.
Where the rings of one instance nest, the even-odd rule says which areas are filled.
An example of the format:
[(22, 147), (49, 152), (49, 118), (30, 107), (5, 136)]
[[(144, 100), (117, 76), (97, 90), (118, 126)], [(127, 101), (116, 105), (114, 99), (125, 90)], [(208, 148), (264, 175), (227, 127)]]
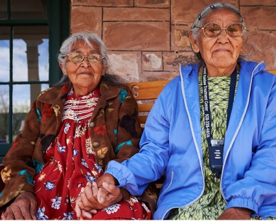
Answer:
[[(50, 143), (59, 134), (69, 84), (45, 90), (34, 101), (19, 134), (3, 160), (1, 209), (20, 193), (34, 193), (34, 176), (39, 173)], [(139, 151), (141, 126), (135, 98), (127, 86), (102, 81), (100, 97), (90, 119), (90, 139), (97, 164), (103, 169), (110, 160), (122, 162)]]

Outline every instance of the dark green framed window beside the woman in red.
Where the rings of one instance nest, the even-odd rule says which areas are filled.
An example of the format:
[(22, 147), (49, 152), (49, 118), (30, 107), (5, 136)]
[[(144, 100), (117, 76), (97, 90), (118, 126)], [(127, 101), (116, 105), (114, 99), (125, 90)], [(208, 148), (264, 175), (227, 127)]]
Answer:
[(0, 0), (0, 163), (32, 102), (61, 77), (55, 55), (69, 12), (68, 0)]

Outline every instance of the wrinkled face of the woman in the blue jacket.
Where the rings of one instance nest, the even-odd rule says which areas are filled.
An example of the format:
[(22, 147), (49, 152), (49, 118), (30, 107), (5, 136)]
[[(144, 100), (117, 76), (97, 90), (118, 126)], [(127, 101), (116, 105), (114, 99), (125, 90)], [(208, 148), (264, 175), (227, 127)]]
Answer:
[[(239, 18), (229, 10), (216, 10), (204, 19), (206, 23), (218, 23), (226, 28), (230, 23), (239, 23)], [(190, 41), (193, 50), (200, 52), (201, 57), (208, 68), (233, 68), (237, 64), (237, 58), (243, 50), (243, 37), (230, 37), (226, 30), (221, 30), (217, 37), (206, 37), (203, 30), (199, 32), (199, 40), (195, 40), (190, 33)]]

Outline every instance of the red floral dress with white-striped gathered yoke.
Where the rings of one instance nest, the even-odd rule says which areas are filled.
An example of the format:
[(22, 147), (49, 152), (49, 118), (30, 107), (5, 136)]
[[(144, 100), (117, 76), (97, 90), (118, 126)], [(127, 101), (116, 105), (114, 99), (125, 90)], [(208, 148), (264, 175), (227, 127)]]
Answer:
[[(95, 162), (89, 123), (99, 99), (99, 88), (85, 96), (70, 90), (64, 105), (61, 130), (48, 147), (46, 164), (34, 177), (37, 219), (76, 220), (75, 200), (82, 186), (103, 175)], [(93, 220), (149, 219), (144, 203), (130, 197), (93, 215)]]

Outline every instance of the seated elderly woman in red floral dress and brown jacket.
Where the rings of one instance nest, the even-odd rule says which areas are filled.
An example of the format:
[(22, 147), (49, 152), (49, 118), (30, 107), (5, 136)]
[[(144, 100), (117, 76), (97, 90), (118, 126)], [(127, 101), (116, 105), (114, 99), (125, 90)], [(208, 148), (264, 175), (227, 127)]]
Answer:
[[(103, 175), (110, 160), (122, 162), (139, 151), (137, 103), (110, 75), (101, 39), (91, 32), (71, 35), (58, 59), (61, 81), (34, 101), (3, 160), (4, 220), (77, 219), (81, 188)], [(118, 200), (90, 218), (150, 218), (146, 205), (125, 189)]]

